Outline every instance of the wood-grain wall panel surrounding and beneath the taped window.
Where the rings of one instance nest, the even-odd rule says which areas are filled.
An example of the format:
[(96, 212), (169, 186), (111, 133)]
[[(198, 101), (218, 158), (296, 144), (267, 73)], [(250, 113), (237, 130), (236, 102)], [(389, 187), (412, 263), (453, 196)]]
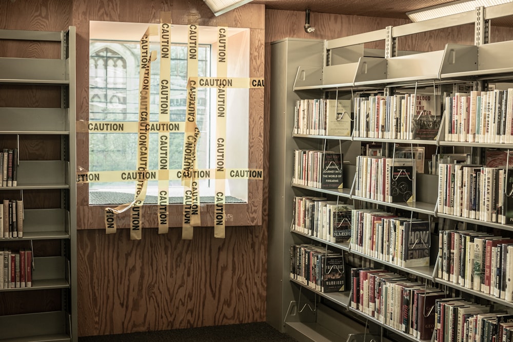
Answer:
[[(87, 120), (88, 113), (89, 21), (158, 23), (160, 11), (171, 11), (175, 24), (250, 28), (250, 75), (264, 76), (263, 5), (246, 5), (215, 17), (201, 0), (78, 0), (73, 3), (78, 119)], [(262, 101), (263, 90), (250, 92), (250, 167), (260, 169), (264, 163)], [(78, 151), (87, 151), (87, 135), (79, 134), (77, 144)], [(79, 153), (77, 165), (87, 163), (87, 153)], [(247, 210), (233, 205), (227, 212), (260, 224), (265, 217), (257, 202), (266, 198), (264, 187), (255, 181), (249, 186), (254, 202), (245, 206)], [(127, 229), (106, 235), (103, 208), (87, 206), (86, 186), (78, 186), (77, 193), (78, 224), (83, 229), (77, 238), (79, 335), (265, 320), (267, 232), (262, 226), (227, 227), (225, 239), (213, 238), (212, 228), (195, 228), (192, 241), (181, 239), (180, 228), (170, 229), (167, 235), (145, 229), (141, 241), (130, 241)], [(143, 207), (145, 227), (156, 226), (154, 209)], [(182, 207), (172, 210), (172, 226), (181, 226)], [(213, 217), (212, 206), (202, 206), (201, 210), (202, 217)], [(128, 226), (125, 216), (119, 219)]]

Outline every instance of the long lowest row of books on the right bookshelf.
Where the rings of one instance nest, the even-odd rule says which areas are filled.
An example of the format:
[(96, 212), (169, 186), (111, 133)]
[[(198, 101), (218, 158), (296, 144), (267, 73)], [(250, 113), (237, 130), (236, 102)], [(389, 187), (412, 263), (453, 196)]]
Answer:
[[(513, 315), (384, 269), (351, 269), (351, 307), (413, 337), (439, 342), (508, 341)], [(504, 339), (503, 339), (504, 338)]]

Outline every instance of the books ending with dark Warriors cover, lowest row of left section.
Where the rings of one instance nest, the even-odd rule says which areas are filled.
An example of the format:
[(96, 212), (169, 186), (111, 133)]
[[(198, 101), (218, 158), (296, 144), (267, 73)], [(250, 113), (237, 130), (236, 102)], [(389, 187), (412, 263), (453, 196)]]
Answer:
[(324, 293), (345, 290), (344, 255), (315, 245), (290, 247), (290, 277)]

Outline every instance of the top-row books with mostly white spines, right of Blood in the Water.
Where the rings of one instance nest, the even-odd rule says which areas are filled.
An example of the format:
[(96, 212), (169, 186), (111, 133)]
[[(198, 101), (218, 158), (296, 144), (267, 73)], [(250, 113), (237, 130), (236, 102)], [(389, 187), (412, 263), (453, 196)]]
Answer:
[(445, 141), (513, 143), (513, 89), (445, 97)]

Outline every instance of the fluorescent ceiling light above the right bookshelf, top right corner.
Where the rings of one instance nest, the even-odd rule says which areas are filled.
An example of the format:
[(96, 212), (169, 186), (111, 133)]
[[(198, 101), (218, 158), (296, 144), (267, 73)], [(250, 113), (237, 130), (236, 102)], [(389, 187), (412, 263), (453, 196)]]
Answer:
[(481, 6), (490, 7), (511, 2), (513, 2), (513, 0), (461, 0), (446, 5), (432, 6), (417, 11), (407, 12), (406, 15), (410, 18), (410, 20), (413, 23), (416, 23), (451, 14), (473, 11), (477, 7)]

